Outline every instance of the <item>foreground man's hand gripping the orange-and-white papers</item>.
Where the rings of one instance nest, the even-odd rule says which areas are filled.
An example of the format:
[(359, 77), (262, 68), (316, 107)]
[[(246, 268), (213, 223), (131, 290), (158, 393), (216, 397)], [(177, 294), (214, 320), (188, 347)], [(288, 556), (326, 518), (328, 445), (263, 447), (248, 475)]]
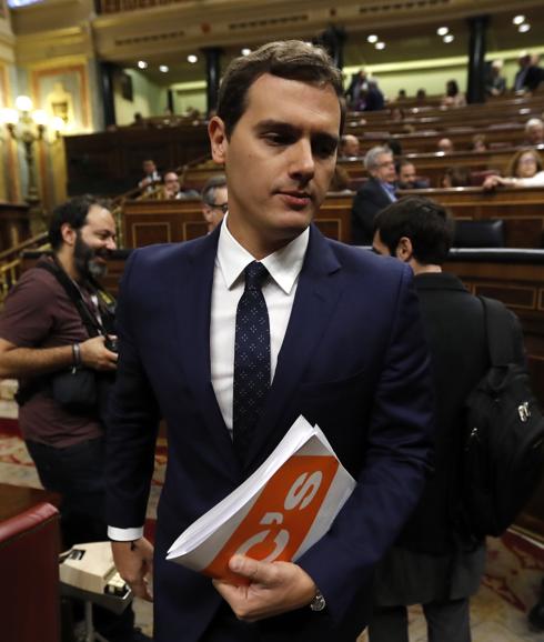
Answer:
[(291, 562), (258, 562), (234, 555), (229, 568), (250, 580), (245, 586), (234, 586), (220, 580), (213, 584), (229, 602), (240, 620), (254, 622), (310, 604), (316, 586), (312, 578)]

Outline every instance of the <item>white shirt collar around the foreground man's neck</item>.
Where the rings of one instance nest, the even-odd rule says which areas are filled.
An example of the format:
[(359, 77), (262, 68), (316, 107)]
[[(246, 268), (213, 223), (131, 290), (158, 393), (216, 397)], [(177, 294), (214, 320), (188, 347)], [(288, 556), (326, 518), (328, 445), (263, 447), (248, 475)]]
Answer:
[[(216, 261), (224, 283), (230, 290), (245, 268), (255, 259), (230, 233), (226, 227), (228, 219), (229, 214), (223, 218), (221, 223)], [(309, 240), (310, 228), (306, 228), (284, 248), (269, 254), (261, 261), (285, 294), (291, 292), (299, 278)]]

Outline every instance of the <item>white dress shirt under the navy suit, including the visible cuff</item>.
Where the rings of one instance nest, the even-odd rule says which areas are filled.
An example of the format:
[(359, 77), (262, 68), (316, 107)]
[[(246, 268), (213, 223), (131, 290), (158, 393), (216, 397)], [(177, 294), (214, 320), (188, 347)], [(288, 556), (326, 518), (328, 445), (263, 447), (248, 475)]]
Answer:
[[(213, 272), (210, 323), (211, 379), (219, 408), (232, 437), (232, 400), (234, 381), (234, 335), (236, 308), (244, 291), (243, 271), (255, 259), (229, 232), (229, 215), (221, 223)], [(270, 375), (274, 379), (278, 354), (285, 337), (289, 318), (304, 255), (310, 229), (288, 245), (262, 259), (270, 273), (262, 288), (270, 321)], [(143, 528), (108, 528), (112, 540), (132, 541), (143, 535)]]

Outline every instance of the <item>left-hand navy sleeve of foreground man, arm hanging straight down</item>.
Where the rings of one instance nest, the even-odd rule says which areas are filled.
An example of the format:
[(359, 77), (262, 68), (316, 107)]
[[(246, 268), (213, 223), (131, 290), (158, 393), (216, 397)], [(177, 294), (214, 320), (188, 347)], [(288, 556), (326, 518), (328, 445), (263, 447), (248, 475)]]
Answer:
[(145, 521), (159, 409), (140, 363), (132, 335), (131, 318), (138, 311), (133, 301), (145, 293), (133, 293), (138, 251), (124, 270), (117, 309), (119, 362), (107, 420), (107, 519), (120, 529), (140, 528)]

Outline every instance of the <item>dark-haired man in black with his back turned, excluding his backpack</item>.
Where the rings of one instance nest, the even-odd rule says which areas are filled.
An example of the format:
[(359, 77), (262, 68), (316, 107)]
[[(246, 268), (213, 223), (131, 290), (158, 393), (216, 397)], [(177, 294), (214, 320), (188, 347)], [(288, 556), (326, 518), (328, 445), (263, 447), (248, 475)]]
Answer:
[[(442, 271), (453, 221), (427, 199), (409, 197), (374, 221), (373, 249), (409, 263), (422, 307), (436, 399), (436, 458), (422, 499), (376, 571), (371, 642), (407, 642), (406, 606), (422, 604), (430, 642), (470, 642), (470, 596), (480, 585), (485, 539), (474, 533), (463, 509), (465, 404), (491, 367), (482, 301), (454, 274)], [(497, 305), (497, 302), (494, 302)], [(501, 305), (524, 363), (523, 335), (514, 314)]]

